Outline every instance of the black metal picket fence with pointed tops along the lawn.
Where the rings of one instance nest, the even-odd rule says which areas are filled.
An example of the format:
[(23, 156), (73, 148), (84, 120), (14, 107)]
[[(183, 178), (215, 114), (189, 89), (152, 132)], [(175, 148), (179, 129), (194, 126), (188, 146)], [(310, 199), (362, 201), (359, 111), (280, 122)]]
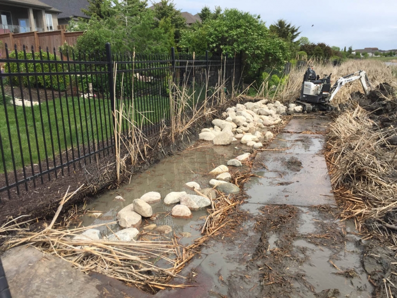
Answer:
[(0, 59), (2, 197), (114, 154), (114, 110), (122, 102), (134, 107), (125, 112), (122, 133), (128, 135), (133, 121), (148, 136), (170, 123), (173, 88), (187, 89), (197, 106), (220, 81), (228, 93), (241, 78), (240, 56), (194, 57), (174, 49), (163, 55), (112, 54), (110, 44), (95, 54), (25, 47), (18, 52), (7, 45), (5, 51)]

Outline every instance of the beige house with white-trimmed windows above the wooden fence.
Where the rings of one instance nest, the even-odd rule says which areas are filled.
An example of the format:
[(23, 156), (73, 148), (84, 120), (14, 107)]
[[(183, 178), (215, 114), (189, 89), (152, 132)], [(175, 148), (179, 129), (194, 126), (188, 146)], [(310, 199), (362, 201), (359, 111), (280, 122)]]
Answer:
[(57, 30), (61, 12), (39, 0), (0, 0), (0, 34)]

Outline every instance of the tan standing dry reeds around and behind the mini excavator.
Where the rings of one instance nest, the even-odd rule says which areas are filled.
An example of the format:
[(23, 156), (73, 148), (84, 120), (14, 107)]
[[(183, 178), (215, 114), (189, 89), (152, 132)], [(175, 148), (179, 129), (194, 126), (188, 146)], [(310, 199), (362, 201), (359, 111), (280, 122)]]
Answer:
[[(323, 77), (324, 74), (332, 74), (331, 84), (335, 83), (341, 76), (362, 70), (367, 73), (368, 79), (373, 87), (383, 82), (388, 82), (393, 87), (397, 87), (396, 79), (392, 74), (392, 68), (381, 61), (369, 59), (349, 60), (342, 63), (340, 66), (332, 66), (331, 63), (323, 63), (321, 61), (308, 61), (308, 65), (313, 66), (316, 74), (319, 74), (320, 77)], [(285, 86), (278, 87), (278, 92), (274, 95), (274, 100), (279, 100), (283, 103), (295, 101), (299, 97), (305, 72), (305, 68), (293, 68), (291, 73), (288, 74)], [(334, 97), (332, 104), (344, 104), (350, 98), (350, 94), (355, 91), (363, 92), (359, 80), (344, 85)]]

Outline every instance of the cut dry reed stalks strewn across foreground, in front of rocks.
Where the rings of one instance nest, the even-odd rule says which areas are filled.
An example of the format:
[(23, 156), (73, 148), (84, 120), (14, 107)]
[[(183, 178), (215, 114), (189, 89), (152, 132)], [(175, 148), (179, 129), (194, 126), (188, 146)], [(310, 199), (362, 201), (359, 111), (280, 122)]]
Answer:
[[(221, 196), (212, 201), (202, 227), (202, 236), (190, 246), (178, 242), (178, 236), (169, 241), (117, 241), (108, 239), (84, 239), (81, 233), (89, 228), (106, 227), (114, 234), (110, 225), (116, 222), (68, 228), (55, 223), (64, 204), (78, 191), (66, 193), (60, 207), (47, 227), (39, 232), (29, 230), (27, 222), (17, 224), (10, 221), (0, 227), (0, 239), (4, 243), (0, 252), (19, 245), (30, 245), (44, 253), (60, 257), (82, 272), (97, 272), (115, 279), (131, 283), (145, 291), (156, 293), (166, 288), (182, 288), (185, 285), (168, 284), (174, 278), (184, 278), (178, 273), (199, 253), (200, 246), (230, 222), (228, 215), (241, 200)], [(9, 234), (15, 232), (16, 234)], [(76, 237), (78, 236), (78, 237)]]

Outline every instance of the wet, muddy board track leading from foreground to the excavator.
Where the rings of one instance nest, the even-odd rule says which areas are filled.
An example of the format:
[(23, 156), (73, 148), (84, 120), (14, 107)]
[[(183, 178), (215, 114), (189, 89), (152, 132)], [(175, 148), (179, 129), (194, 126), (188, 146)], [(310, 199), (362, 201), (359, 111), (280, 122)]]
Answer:
[(324, 136), (314, 134), (329, 121), (293, 119), (257, 154), (252, 171), (261, 177), (245, 185), (245, 220), (184, 269), (193, 288), (156, 296), (372, 297), (360, 237), (353, 223), (336, 220)]

